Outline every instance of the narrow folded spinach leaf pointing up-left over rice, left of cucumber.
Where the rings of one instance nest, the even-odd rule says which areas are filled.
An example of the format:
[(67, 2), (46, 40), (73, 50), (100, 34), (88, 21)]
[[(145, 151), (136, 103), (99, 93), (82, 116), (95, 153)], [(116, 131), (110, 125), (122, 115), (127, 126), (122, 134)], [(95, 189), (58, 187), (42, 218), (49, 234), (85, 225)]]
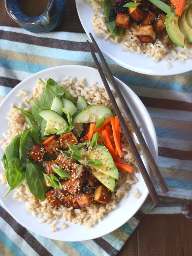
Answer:
[(17, 108), (18, 110), (21, 111), (21, 113), (23, 113), (27, 119), (27, 122), (28, 122), (28, 125), (30, 126), (31, 128), (31, 136), (33, 137), (33, 139), (38, 143), (40, 144), (40, 140), (39, 140), (39, 132), (37, 131), (37, 127), (38, 127), (38, 123), (37, 121), (35, 120), (33, 114), (32, 114), (32, 111), (27, 111), (27, 110), (24, 110), (22, 108), (18, 108), (16, 106), (13, 106), (14, 108)]

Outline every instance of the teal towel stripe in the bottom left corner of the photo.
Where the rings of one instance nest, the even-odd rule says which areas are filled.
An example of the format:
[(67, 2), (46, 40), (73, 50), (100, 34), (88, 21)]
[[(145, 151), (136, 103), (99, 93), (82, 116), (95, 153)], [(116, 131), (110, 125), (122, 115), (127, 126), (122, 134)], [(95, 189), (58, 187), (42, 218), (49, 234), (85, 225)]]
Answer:
[(12, 242), (12, 240), (0, 229), (0, 241), (12, 252), (15, 256), (26, 256), (26, 254)]

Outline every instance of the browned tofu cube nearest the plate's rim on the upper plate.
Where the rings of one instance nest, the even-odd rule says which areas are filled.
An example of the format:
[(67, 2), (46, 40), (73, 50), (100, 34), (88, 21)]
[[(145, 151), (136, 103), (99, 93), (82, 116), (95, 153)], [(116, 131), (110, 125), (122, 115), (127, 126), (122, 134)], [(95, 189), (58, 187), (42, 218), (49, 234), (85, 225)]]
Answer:
[(152, 25), (141, 25), (137, 30), (137, 38), (142, 43), (155, 43), (156, 31)]

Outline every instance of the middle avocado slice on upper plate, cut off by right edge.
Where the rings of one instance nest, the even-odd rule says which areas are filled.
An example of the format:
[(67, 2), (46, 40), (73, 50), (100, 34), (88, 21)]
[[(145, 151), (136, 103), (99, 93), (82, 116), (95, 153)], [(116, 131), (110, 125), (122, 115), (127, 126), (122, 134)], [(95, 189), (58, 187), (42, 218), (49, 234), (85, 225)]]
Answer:
[(186, 20), (186, 16), (185, 16), (187, 11), (188, 11), (188, 9), (185, 9), (182, 12), (181, 17), (178, 21), (178, 26), (179, 26), (181, 33), (185, 36), (185, 38), (189, 42), (192, 42), (192, 28), (189, 27), (187, 20)]

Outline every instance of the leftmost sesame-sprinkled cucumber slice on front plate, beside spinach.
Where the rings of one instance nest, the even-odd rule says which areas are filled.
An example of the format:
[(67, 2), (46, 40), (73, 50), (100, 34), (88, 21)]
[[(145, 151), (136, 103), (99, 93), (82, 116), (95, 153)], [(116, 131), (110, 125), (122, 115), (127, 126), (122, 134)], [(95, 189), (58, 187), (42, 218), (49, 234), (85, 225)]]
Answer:
[(43, 109), (39, 111), (39, 115), (43, 117), (43, 119), (45, 119), (48, 124), (50, 124), (57, 130), (69, 126), (62, 116), (60, 116), (57, 112), (51, 109)]

